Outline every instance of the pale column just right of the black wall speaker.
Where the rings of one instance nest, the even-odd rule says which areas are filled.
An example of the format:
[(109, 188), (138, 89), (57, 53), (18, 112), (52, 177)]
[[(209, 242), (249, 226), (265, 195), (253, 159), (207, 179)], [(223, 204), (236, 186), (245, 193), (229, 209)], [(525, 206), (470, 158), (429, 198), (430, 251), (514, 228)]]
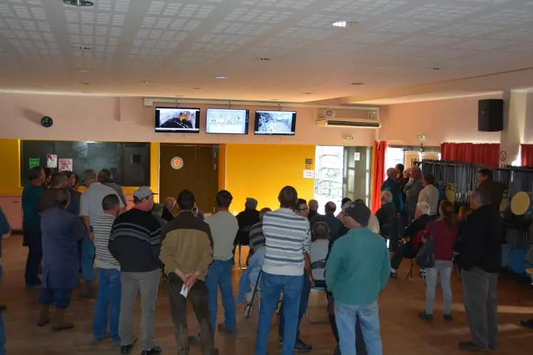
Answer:
[[(511, 165), (516, 161), (520, 165), (520, 144), (524, 143), (528, 95), (531, 94), (525, 90), (504, 92), (504, 129), (500, 133), (499, 143), (499, 163), (502, 165)], [(533, 111), (533, 108), (529, 110)]]

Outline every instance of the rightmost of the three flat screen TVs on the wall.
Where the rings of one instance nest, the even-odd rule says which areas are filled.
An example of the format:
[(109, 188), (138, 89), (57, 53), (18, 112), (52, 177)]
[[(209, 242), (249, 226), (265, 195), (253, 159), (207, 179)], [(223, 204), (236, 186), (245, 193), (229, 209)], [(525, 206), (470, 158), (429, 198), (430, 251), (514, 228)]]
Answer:
[(256, 135), (294, 135), (295, 111), (255, 111)]

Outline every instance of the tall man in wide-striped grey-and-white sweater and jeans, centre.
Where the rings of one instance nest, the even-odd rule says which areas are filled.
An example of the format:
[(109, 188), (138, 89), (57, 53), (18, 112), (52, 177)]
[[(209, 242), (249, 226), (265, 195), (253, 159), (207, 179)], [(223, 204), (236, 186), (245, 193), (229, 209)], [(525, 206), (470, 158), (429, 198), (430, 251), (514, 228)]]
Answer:
[[(292, 186), (285, 186), (280, 191), (278, 200), (280, 209), (268, 212), (263, 217), (266, 244), (260, 280), (261, 307), (255, 355), (265, 355), (267, 352), (268, 333), (281, 292), (285, 309), (282, 355), (293, 355), (304, 268), (308, 275), (311, 274), (308, 255), (311, 244), (309, 221), (294, 212), (298, 192)], [(312, 279), (309, 281), (313, 282)]]

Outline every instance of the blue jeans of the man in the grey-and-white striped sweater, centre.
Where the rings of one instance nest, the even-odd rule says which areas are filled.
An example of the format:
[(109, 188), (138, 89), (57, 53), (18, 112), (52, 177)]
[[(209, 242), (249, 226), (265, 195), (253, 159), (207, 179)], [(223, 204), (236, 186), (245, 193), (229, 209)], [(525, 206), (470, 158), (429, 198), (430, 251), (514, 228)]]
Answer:
[[(261, 307), (259, 311), (258, 335), (255, 340), (255, 355), (266, 355), (268, 333), (272, 324), (278, 299), (283, 292), (283, 351), (282, 355), (293, 355), (298, 331), (298, 311), (303, 288), (303, 277), (283, 276), (263, 272), (260, 279)], [(281, 324), (281, 321), (280, 321)]]

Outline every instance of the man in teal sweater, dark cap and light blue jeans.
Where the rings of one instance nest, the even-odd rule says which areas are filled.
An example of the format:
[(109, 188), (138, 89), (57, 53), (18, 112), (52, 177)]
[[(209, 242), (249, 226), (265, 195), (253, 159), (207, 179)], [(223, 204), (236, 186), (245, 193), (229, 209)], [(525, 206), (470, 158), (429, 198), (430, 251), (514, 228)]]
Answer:
[(390, 261), (385, 240), (370, 232), (370, 210), (363, 202), (345, 209), (350, 232), (339, 238), (326, 263), (326, 284), (335, 298), (340, 353), (355, 355), (355, 324), (360, 321), (367, 353), (383, 353), (377, 296), (389, 279)]

